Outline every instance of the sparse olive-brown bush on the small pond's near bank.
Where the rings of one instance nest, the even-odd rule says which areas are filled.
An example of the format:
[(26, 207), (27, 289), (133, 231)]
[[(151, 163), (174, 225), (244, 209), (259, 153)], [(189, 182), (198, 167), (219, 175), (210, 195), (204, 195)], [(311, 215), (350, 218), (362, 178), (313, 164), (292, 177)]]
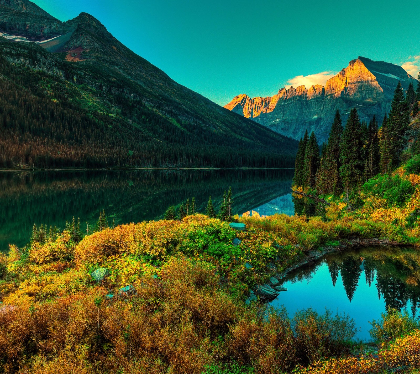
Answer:
[(314, 362), (331, 355), (339, 355), (357, 333), (354, 319), (330, 310), (318, 314), (314, 309), (298, 310), (292, 326), (296, 354), (303, 361)]

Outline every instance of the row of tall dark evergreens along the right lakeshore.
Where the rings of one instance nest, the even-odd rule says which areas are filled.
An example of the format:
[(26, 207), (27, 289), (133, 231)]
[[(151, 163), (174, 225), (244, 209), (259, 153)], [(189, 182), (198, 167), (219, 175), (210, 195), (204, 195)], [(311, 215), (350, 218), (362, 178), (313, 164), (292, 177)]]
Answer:
[[(419, 73), (420, 79), (420, 73)], [(357, 109), (350, 111), (343, 127), (336, 111), (327, 143), (321, 152), (315, 133), (306, 131), (299, 141), (295, 160), (295, 186), (316, 189), (319, 194), (351, 193), (378, 173), (388, 173), (399, 166), (404, 150), (404, 134), (409, 128), (409, 115), (417, 115), (420, 101), (420, 82), (416, 91), (410, 83), (407, 95), (400, 82), (394, 91), (391, 111), (378, 129), (375, 116), (360, 122)], [(420, 154), (420, 131), (413, 142), (413, 154)]]

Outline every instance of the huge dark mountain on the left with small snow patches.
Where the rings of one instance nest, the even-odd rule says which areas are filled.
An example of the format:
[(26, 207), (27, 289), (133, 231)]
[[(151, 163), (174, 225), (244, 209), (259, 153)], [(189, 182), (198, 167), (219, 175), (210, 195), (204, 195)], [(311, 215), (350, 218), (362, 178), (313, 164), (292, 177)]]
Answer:
[(95, 17), (28, 0), (0, 14), (0, 165), (293, 165), (296, 141), (173, 81)]

